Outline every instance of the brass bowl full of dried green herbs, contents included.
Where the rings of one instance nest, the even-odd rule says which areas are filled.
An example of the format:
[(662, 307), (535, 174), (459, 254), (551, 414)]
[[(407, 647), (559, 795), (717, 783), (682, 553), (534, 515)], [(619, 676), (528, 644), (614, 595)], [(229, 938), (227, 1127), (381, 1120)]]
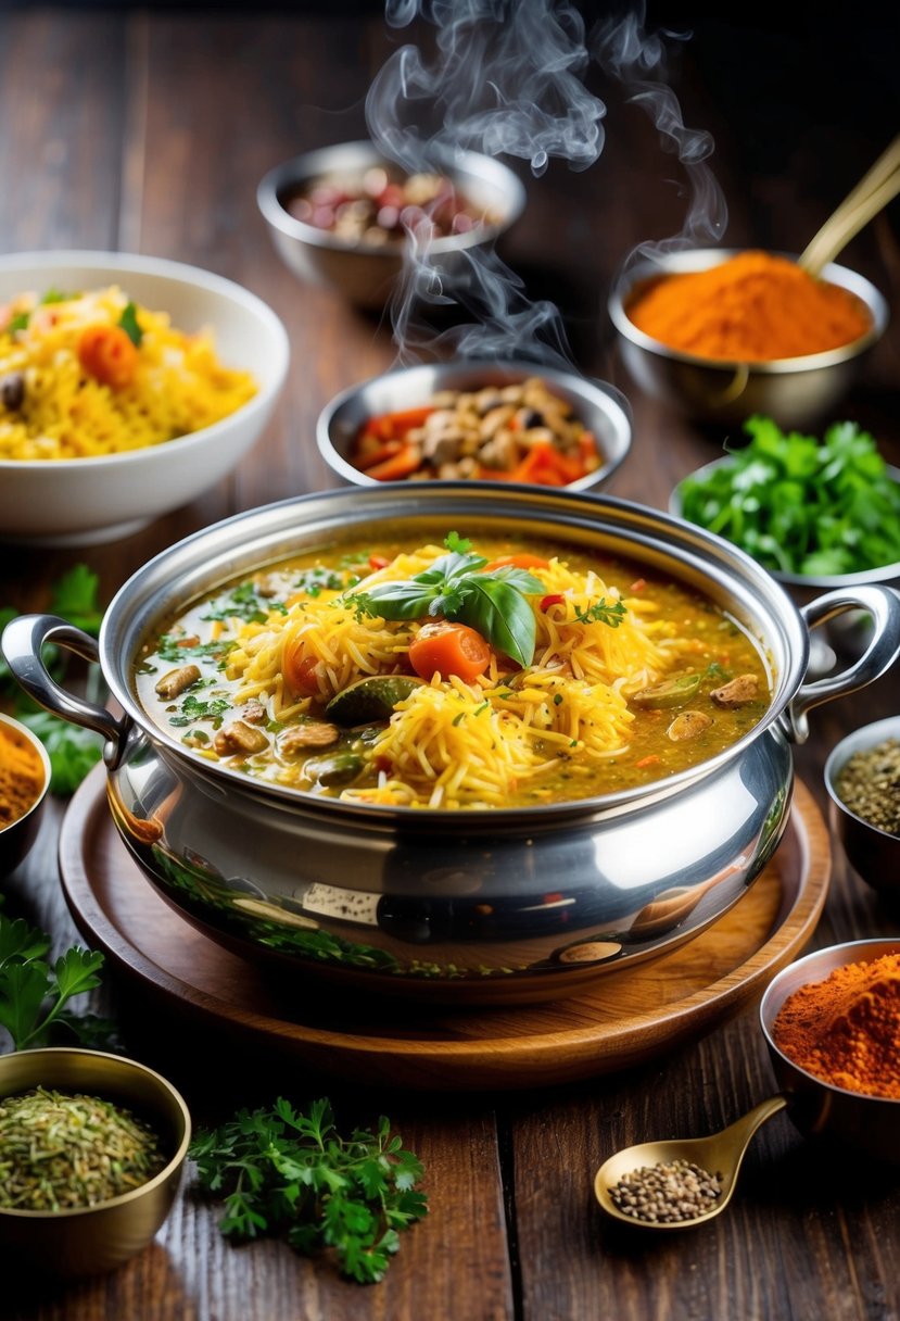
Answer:
[(141, 1251), (178, 1192), (187, 1106), (161, 1074), (80, 1048), (0, 1058), (0, 1246), (58, 1276)]

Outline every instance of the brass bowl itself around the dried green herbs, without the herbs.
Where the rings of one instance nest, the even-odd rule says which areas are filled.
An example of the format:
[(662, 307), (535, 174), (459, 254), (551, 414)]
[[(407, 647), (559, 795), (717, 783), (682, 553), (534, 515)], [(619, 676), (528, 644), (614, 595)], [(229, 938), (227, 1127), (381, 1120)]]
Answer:
[(161, 1168), (128, 1192), (59, 1210), (0, 1205), (0, 1251), (8, 1264), (63, 1279), (106, 1273), (145, 1248), (172, 1210), (191, 1136), (190, 1112), (170, 1082), (135, 1059), (78, 1048), (20, 1050), (0, 1058), (0, 1156), (5, 1103), (36, 1089), (99, 1098), (156, 1135)]

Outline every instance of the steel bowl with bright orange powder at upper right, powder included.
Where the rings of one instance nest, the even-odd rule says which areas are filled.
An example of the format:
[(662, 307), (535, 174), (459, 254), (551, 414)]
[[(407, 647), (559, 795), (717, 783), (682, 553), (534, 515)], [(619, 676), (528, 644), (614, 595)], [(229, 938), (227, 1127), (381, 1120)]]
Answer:
[(888, 322), (871, 281), (789, 254), (694, 248), (631, 266), (608, 314), (640, 388), (698, 421), (765, 413), (783, 427), (827, 417)]

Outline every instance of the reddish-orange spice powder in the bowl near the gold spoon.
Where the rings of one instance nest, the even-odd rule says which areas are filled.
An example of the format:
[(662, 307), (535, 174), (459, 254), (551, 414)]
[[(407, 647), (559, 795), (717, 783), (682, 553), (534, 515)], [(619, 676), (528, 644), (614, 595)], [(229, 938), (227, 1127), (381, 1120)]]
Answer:
[(900, 954), (849, 963), (800, 987), (781, 1005), (772, 1037), (823, 1082), (900, 1100)]

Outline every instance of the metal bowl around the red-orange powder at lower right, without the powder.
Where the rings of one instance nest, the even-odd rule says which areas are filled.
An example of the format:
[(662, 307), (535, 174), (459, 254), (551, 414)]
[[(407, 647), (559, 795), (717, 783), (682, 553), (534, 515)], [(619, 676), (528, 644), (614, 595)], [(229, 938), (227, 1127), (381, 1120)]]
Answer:
[(800, 987), (823, 982), (847, 963), (871, 962), (897, 951), (900, 941), (849, 941), (808, 954), (769, 982), (759, 1007), (772, 1069), (788, 1095), (788, 1114), (797, 1128), (809, 1136), (834, 1140), (856, 1160), (863, 1155), (892, 1164), (900, 1162), (900, 1100), (847, 1091), (806, 1073), (776, 1045), (772, 1029), (781, 1005)]

